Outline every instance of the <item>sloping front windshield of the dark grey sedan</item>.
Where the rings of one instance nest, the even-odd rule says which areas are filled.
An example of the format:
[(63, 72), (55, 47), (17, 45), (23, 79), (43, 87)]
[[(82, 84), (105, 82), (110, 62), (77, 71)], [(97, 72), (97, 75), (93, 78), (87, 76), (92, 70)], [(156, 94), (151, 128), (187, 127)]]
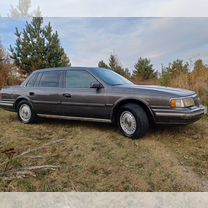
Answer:
[(94, 69), (94, 74), (109, 85), (132, 84), (128, 79), (110, 69)]

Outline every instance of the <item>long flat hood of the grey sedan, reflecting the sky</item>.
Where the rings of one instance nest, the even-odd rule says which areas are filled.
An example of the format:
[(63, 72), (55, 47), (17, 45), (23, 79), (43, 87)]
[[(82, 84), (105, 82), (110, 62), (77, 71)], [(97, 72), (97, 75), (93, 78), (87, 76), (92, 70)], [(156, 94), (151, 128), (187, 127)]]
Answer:
[(171, 96), (176, 96), (176, 97), (185, 97), (185, 96), (190, 96), (195, 94), (194, 91), (191, 90), (186, 90), (186, 89), (181, 89), (181, 88), (172, 88), (172, 87), (161, 87), (157, 85), (119, 85), (118, 87), (120, 88), (125, 88), (125, 89), (135, 89), (135, 90), (142, 90), (142, 91), (147, 91), (147, 92), (157, 92), (157, 94), (168, 94)]

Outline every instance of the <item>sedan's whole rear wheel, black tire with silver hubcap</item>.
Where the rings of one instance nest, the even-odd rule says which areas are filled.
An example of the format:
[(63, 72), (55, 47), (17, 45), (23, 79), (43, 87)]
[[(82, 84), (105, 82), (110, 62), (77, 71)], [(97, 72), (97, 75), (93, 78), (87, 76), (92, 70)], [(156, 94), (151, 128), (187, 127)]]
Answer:
[(32, 124), (36, 121), (37, 116), (32, 109), (31, 104), (23, 100), (17, 105), (17, 115), (19, 120), (24, 124)]

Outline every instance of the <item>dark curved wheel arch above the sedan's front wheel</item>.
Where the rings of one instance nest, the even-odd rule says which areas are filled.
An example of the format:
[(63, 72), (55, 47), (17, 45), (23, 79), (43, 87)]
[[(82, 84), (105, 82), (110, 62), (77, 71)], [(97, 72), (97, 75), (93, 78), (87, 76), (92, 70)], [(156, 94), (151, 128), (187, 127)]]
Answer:
[(154, 122), (154, 120), (155, 120), (154, 113), (151, 110), (151, 108), (149, 107), (148, 103), (146, 103), (143, 100), (137, 99), (137, 98), (126, 98), (126, 99), (119, 100), (116, 104), (114, 104), (114, 107), (111, 112), (112, 123), (114, 123), (114, 124), (116, 123), (116, 117), (117, 117), (117, 113), (118, 113), (119, 108), (122, 105), (130, 104), (130, 103), (137, 104), (140, 107), (142, 107), (142, 109), (147, 114), (147, 117), (148, 117), (150, 123)]

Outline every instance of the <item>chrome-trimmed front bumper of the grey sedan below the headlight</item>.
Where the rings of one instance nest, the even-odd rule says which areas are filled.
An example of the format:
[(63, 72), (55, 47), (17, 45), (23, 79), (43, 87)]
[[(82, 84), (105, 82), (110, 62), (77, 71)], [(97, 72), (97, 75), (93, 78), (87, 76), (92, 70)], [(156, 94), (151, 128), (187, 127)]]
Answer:
[(156, 124), (189, 124), (205, 114), (203, 105), (183, 109), (153, 109)]

